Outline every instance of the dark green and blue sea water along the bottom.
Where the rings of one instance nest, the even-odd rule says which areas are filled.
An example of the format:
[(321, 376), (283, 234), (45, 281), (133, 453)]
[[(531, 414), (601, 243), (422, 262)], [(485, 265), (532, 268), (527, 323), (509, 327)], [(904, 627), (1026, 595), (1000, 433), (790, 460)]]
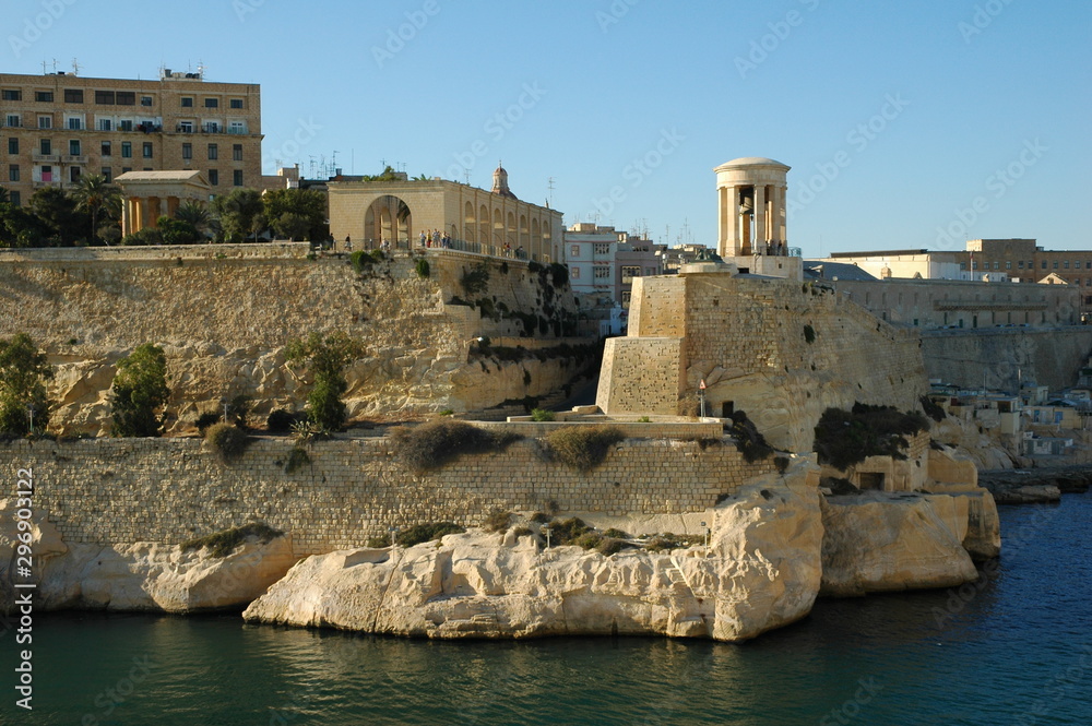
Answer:
[(978, 585), (823, 599), (741, 645), (39, 616), (31, 712), (0, 635), (0, 723), (1092, 724), (1092, 495), (1001, 514), (1005, 557)]

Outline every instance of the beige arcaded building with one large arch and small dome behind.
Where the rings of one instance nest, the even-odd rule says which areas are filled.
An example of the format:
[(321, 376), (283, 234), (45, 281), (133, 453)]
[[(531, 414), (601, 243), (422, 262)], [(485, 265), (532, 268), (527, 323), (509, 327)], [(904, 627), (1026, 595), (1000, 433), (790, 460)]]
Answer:
[(561, 213), (517, 199), (508, 171), (494, 172), (491, 191), (434, 178), (427, 181), (333, 181), (330, 233), (364, 249), (387, 240), (418, 247), (420, 233), (447, 235), (452, 249), (537, 262), (561, 260)]

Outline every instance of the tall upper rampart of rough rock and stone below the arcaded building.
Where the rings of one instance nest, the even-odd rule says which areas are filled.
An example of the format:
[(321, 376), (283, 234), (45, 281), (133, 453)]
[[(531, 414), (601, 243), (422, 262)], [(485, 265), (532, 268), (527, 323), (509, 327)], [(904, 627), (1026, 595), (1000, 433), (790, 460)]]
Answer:
[[(417, 275), (408, 255), (357, 275), (345, 260), (299, 257), (305, 249), (240, 245), (3, 254), (0, 336), (28, 333), (50, 354), (57, 371), (51, 393), (59, 403), (51, 420), (69, 433), (107, 430), (115, 365), (143, 343), (167, 353), (173, 431), (185, 430), (199, 413), (218, 409), (225, 396), (251, 396), (262, 419), (276, 407), (301, 408), (307, 381), (286, 369), (284, 346), (310, 331), (342, 330), (368, 347), (367, 358), (348, 371), (352, 416), (487, 408), (547, 395), (580, 370), (570, 358), (468, 361), (473, 338), (523, 329), (518, 320), (483, 319), (478, 309), (448, 305), (468, 267), (484, 263), (490, 271), (478, 297), (496, 307), (505, 304), (536, 321), (572, 311), (568, 287), (554, 288), (527, 263), (431, 250), (428, 278)], [(534, 333), (542, 334), (537, 325)]]

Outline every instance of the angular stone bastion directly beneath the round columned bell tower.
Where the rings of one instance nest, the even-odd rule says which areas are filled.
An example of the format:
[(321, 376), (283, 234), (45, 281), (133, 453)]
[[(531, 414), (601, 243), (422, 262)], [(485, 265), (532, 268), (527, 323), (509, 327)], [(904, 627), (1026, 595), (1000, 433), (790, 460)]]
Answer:
[[(657, 402), (629, 390), (615, 367), (640, 359), (649, 370), (666, 371), (681, 360), (676, 405), (696, 395), (704, 380), (710, 415), (745, 410), (772, 444), (810, 451), (814, 428), (828, 407), (860, 401), (911, 409), (928, 390), (917, 335), (878, 320), (842, 295), (729, 273), (687, 274), (680, 282), (634, 281), (631, 316), (640, 321), (641, 337), (631, 334), (604, 354), (598, 404), (605, 412), (676, 413), (675, 405), (649, 409)], [(677, 335), (679, 326), (658, 310), (679, 307), (679, 293), (685, 295), (682, 350), (665, 355), (660, 336)], [(676, 299), (665, 301), (665, 294)]]

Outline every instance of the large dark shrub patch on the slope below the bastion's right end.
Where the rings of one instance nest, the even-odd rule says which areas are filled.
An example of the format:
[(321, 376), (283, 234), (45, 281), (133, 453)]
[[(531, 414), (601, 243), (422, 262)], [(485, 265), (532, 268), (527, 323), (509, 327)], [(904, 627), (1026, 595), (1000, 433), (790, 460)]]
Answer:
[(855, 403), (852, 410), (828, 408), (816, 426), (815, 451), (820, 464), (845, 471), (869, 456), (904, 460), (905, 437), (929, 429), (917, 412), (901, 413), (893, 406)]

